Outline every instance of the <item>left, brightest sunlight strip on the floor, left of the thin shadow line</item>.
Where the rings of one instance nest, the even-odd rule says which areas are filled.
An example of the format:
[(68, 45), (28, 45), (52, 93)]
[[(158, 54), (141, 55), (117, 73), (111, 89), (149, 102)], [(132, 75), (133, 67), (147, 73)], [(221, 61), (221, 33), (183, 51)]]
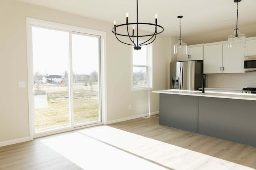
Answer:
[(77, 132), (42, 142), (86, 170), (166, 170)]

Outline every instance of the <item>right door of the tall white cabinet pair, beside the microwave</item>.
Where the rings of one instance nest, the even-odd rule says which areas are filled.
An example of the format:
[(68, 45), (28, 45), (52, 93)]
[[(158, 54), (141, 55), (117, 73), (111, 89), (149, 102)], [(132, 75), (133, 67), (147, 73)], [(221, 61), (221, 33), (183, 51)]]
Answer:
[(244, 48), (228, 48), (223, 44), (223, 73), (244, 72)]

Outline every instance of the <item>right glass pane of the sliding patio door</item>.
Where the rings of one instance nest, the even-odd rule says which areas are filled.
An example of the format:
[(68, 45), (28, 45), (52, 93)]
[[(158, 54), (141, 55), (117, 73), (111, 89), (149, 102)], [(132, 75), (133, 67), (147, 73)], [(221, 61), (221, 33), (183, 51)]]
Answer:
[(72, 34), (74, 125), (100, 121), (99, 38)]

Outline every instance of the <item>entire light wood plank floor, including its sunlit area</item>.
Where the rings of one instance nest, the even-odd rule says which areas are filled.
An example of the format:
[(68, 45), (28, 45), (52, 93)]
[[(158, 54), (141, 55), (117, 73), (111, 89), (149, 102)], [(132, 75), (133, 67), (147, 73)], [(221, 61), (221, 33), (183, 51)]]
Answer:
[(255, 147), (164, 127), (153, 116), (0, 147), (0, 170), (256, 169)]

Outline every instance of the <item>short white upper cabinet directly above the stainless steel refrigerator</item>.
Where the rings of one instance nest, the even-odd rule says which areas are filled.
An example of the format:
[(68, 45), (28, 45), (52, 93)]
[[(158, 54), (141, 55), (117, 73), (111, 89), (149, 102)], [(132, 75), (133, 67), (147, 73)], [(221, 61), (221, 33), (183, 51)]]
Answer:
[(187, 54), (177, 55), (177, 61), (203, 60), (203, 44), (188, 46)]

